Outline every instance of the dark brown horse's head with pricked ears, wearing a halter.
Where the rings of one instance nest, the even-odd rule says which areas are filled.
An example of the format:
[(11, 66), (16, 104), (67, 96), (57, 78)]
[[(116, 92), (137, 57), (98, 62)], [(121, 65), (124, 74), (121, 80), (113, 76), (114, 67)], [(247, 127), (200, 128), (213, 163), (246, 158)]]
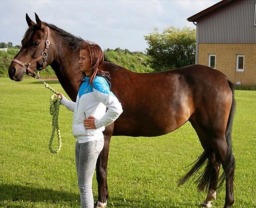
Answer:
[(54, 59), (50, 28), (36, 16), (34, 23), (26, 14), (28, 29), (21, 41), (21, 49), (9, 66), (9, 77), (21, 81), (25, 74), (36, 76), (36, 70), (42, 70)]

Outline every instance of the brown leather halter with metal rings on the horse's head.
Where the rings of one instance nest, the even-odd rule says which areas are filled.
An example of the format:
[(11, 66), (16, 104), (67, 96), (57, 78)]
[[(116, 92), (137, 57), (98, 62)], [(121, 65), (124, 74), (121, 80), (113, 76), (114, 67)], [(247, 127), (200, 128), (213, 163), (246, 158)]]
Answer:
[[(46, 41), (45, 41), (45, 46), (44, 46), (44, 51), (41, 53), (40, 56), (38, 56), (37, 58), (33, 59), (32, 61), (30, 62), (22, 62), (22, 61), (19, 61), (18, 59), (16, 58), (13, 58), (12, 62), (14, 63), (17, 63), (19, 65), (21, 65), (24, 69), (26, 69), (26, 74), (29, 75), (29, 76), (32, 76), (34, 78), (36, 77), (39, 77), (39, 70), (43, 70), (45, 67), (46, 67), (46, 60), (47, 60), (47, 50), (51, 44), (51, 42), (47, 39), (48, 37), (48, 33), (49, 33), (49, 27), (47, 27), (47, 31), (46, 31)], [(38, 73), (36, 74), (31, 68), (30, 68), (30, 65), (33, 64), (33, 63), (36, 63), (38, 62), (40, 59), (44, 60), (43, 64), (42, 64), (42, 67), (38, 70)], [(32, 75), (31, 75), (32, 74)]]

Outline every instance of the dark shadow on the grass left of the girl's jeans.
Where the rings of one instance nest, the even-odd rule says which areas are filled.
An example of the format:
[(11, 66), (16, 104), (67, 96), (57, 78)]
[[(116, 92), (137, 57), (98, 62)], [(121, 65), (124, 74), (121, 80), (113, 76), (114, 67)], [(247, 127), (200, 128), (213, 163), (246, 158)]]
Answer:
[(75, 193), (62, 191), (61, 188), (56, 191), (47, 188), (2, 183), (0, 184), (0, 201), (50, 203), (65, 201), (79, 204), (80, 196)]

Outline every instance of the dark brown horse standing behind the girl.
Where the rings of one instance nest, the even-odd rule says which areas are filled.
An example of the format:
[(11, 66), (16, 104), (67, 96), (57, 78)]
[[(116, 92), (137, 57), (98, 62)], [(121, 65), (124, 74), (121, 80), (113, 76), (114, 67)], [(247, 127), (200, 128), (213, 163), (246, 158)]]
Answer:
[[(51, 65), (68, 96), (75, 101), (81, 72), (78, 55), (82, 41), (64, 30), (42, 22), (34, 23), (26, 14), (29, 26), (19, 53), (9, 66), (9, 77), (21, 81), (25, 74)], [(104, 62), (102, 70), (111, 75), (112, 91), (123, 106), (122, 115), (104, 131), (105, 144), (98, 158), (98, 207), (107, 205), (107, 164), (111, 136), (159, 136), (178, 129), (189, 121), (199, 137), (204, 152), (190, 172), (180, 179), (183, 184), (207, 161), (199, 176), (198, 189), (208, 189), (202, 203), (211, 207), (216, 199), (220, 164), (226, 180), (224, 207), (233, 204), (235, 159), (232, 154), (231, 129), (235, 109), (232, 83), (221, 72), (203, 66), (139, 74), (113, 63)]]

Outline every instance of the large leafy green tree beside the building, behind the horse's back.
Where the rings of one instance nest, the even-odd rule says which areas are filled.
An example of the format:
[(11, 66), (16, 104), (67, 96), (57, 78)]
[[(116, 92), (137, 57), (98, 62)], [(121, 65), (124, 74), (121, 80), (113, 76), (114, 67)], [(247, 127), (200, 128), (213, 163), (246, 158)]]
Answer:
[(144, 38), (149, 45), (147, 48), (147, 55), (151, 56), (149, 64), (155, 71), (185, 67), (195, 62), (195, 29), (186, 26), (176, 29), (171, 26), (159, 33), (155, 28)]

